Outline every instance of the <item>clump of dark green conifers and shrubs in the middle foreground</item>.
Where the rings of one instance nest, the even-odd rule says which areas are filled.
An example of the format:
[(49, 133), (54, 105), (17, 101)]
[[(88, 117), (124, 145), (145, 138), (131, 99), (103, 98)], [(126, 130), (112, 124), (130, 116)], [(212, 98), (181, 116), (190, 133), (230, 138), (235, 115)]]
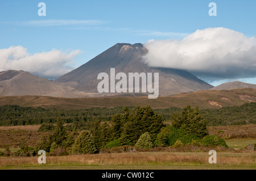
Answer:
[(110, 121), (97, 120), (90, 129), (68, 131), (58, 118), (48, 137), (43, 136), (35, 148), (24, 142), (16, 155), (34, 155), (39, 150), (53, 155), (93, 154), (122, 146), (139, 149), (189, 144), (227, 147), (220, 137), (209, 136), (205, 119), (197, 107), (184, 107), (171, 119), (172, 125), (167, 127), (163, 117), (150, 106), (123, 107)]

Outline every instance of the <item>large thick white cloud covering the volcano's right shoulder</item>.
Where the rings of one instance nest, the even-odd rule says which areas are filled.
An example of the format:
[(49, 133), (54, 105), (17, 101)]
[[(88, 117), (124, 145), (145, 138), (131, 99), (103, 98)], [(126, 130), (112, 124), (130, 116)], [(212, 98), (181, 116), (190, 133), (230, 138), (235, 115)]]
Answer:
[(144, 61), (205, 79), (256, 77), (256, 39), (228, 28), (197, 30), (183, 40), (150, 40)]

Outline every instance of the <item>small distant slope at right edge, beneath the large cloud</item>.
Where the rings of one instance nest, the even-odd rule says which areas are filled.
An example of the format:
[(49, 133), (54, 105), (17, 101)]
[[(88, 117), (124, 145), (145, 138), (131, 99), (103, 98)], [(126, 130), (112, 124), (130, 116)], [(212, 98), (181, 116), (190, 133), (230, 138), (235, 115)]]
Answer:
[(235, 82), (222, 83), (219, 86), (213, 87), (211, 90), (229, 90), (229, 89), (243, 89), (243, 88), (256, 89), (256, 85), (251, 83), (243, 83), (243, 82), (235, 81)]

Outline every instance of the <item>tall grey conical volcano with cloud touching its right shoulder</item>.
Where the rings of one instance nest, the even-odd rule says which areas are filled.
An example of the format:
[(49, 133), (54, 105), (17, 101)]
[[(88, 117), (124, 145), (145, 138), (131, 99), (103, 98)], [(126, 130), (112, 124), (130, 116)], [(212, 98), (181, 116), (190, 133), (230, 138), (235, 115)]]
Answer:
[(57, 78), (55, 82), (65, 82), (79, 91), (98, 92), (97, 85), (101, 81), (97, 79), (98, 74), (105, 72), (110, 75), (110, 68), (115, 68), (115, 74), (159, 73), (159, 95), (208, 90), (213, 87), (185, 70), (149, 67), (142, 58), (147, 52), (140, 43), (118, 43), (86, 64)]

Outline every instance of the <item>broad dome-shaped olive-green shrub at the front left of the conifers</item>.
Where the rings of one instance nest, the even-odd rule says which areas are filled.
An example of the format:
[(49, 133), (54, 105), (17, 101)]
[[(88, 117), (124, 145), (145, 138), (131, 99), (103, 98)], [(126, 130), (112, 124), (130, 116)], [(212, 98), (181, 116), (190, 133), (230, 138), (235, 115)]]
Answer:
[(96, 152), (92, 134), (82, 131), (72, 146), (72, 154), (92, 154)]

